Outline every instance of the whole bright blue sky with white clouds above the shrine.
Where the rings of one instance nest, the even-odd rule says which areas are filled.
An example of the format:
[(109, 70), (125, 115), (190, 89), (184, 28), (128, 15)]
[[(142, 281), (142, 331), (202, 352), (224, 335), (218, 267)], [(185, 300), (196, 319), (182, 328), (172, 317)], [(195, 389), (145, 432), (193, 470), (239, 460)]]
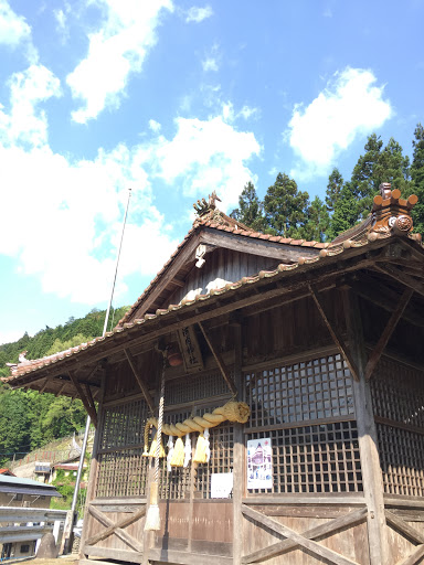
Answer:
[(0, 343), (132, 303), (216, 190), (411, 154), (424, 1), (0, 0)]

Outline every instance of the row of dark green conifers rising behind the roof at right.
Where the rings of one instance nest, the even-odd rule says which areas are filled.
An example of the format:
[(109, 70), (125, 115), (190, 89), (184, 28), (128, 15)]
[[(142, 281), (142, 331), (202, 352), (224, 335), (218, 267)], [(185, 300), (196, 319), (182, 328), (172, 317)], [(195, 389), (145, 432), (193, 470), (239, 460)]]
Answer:
[(424, 235), (424, 128), (416, 126), (412, 140), (412, 163), (393, 138), (384, 147), (375, 134), (369, 136), (364, 152), (358, 159), (350, 180), (333, 169), (329, 175), (326, 201), (310, 202), (296, 181), (278, 173), (264, 200), (250, 182), (244, 188), (239, 207), (231, 216), (254, 230), (284, 237), (331, 241), (341, 232), (367, 217), (372, 199), (382, 182), (391, 182), (403, 198), (414, 193), (418, 203), (412, 212), (415, 232)]

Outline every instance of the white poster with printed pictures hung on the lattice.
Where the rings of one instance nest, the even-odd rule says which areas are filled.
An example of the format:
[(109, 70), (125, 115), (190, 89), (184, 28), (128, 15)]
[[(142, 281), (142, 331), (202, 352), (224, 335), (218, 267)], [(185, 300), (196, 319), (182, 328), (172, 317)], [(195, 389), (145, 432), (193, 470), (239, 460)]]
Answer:
[(247, 489), (273, 488), (273, 449), (271, 437), (247, 441)]

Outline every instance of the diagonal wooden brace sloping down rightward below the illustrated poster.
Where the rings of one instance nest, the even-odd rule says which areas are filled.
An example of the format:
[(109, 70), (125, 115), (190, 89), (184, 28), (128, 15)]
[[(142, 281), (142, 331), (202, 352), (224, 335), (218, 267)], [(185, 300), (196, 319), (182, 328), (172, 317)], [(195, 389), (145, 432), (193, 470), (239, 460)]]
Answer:
[(255, 520), (255, 522), (258, 522), (261, 525), (268, 527), (273, 532), (284, 535), (288, 540), (296, 542), (301, 548), (305, 547), (306, 550), (309, 550), (314, 555), (319, 555), (320, 557), (328, 559), (330, 563), (335, 563), (336, 565), (358, 565), (349, 557), (344, 557), (343, 555), (340, 555), (339, 553), (336, 553), (332, 550), (329, 550), (328, 547), (314, 542), (312, 540), (308, 540), (304, 535), (298, 534), (290, 527), (287, 527), (280, 522), (266, 516), (257, 510), (253, 510), (252, 508), (243, 504), (242, 512), (252, 520)]

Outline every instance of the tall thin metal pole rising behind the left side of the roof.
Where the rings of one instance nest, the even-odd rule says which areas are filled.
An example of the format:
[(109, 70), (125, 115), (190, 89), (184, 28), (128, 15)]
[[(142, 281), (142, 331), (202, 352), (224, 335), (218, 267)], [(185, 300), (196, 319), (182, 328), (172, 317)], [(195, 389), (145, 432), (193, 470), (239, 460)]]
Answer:
[[(106, 311), (106, 316), (105, 316), (105, 324), (103, 327), (103, 337), (105, 337), (105, 333), (107, 331), (107, 323), (109, 321), (109, 313), (110, 313), (110, 308), (112, 308), (112, 301), (114, 299), (116, 276), (118, 274), (120, 250), (123, 248), (124, 232), (125, 232), (125, 226), (127, 224), (127, 215), (128, 215), (128, 207), (129, 207), (129, 199), (130, 198), (131, 198), (131, 189), (128, 189), (127, 207), (125, 209), (125, 215), (124, 215), (124, 222), (123, 222), (123, 232), (120, 234), (120, 243), (119, 243), (118, 256), (116, 258), (115, 276), (114, 276), (114, 282), (112, 285), (112, 292), (110, 292), (109, 305), (107, 307), (107, 311)], [(71, 553), (71, 551), (72, 551), (73, 527), (74, 527), (74, 522), (75, 522), (75, 509), (76, 509), (76, 502), (78, 500), (80, 481), (81, 481), (81, 476), (83, 473), (83, 468), (84, 468), (84, 458), (85, 458), (85, 450), (86, 450), (86, 447), (87, 447), (87, 440), (88, 440), (88, 433), (89, 433), (91, 422), (92, 422), (91, 417), (87, 416), (87, 420), (86, 420), (86, 424), (85, 424), (85, 434), (84, 434), (83, 447), (82, 447), (81, 455), (80, 455), (78, 471), (77, 471), (76, 481), (75, 481), (74, 497), (72, 499), (71, 510), (68, 511), (68, 513), (66, 515), (66, 522), (65, 522), (64, 530), (63, 530), (63, 542), (62, 542), (63, 555), (66, 555), (67, 553)]]

